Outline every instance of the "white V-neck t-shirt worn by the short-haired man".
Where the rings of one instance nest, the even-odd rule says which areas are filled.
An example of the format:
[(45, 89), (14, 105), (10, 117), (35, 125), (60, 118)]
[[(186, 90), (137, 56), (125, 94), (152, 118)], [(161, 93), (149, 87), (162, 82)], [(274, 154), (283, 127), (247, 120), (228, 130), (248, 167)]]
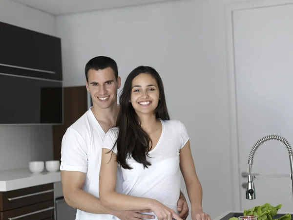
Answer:
[[(89, 109), (72, 124), (62, 139), (62, 171), (80, 171), (86, 173), (84, 191), (99, 198), (99, 176), (102, 159), (102, 144), (105, 132)], [(117, 170), (116, 190), (121, 192), (123, 177)], [(66, 187), (66, 186), (63, 186)], [(98, 215), (77, 210), (75, 220), (112, 220), (112, 215)]]

